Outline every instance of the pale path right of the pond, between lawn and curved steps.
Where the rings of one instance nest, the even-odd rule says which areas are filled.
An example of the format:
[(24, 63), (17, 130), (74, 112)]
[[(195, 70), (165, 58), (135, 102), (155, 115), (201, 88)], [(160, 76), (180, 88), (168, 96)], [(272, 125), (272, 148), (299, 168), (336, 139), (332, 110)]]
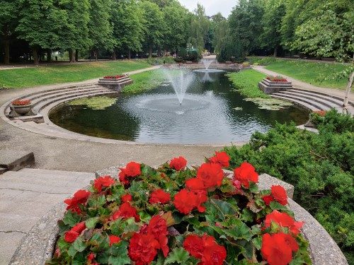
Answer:
[[(338, 90), (338, 89), (334, 89), (334, 88), (322, 88), (319, 86), (313, 86), (309, 83), (299, 81), (299, 80), (292, 78), (290, 76), (285, 76), (282, 73), (276, 73), (275, 71), (270, 71), (268, 69), (265, 69), (265, 66), (252, 66), (252, 68), (256, 71), (259, 71), (261, 73), (265, 73), (269, 76), (284, 76), (285, 78), (287, 78), (288, 81), (292, 82), (292, 85), (295, 88), (301, 88), (301, 89), (316, 91), (316, 92), (320, 92), (320, 93), (326, 93), (328, 95), (336, 95), (341, 98), (344, 98), (346, 96), (346, 90)], [(349, 100), (354, 101), (354, 93), (349, 94)]]

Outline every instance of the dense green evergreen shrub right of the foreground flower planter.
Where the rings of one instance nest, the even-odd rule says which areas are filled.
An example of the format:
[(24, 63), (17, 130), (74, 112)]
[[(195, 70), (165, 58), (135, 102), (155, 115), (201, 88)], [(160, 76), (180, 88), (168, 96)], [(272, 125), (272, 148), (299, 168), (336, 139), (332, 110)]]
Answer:
[(299, 130), (295, 124), (278, 124), (267, 134), (253, 134), (249, 144), (225, 151), (232, 167), (248, 161), (258, 172), (294, 185), (295, 201), (319, 220), (353, 261), (354, 118), (333, 110), (315, 122), (319, 134)]

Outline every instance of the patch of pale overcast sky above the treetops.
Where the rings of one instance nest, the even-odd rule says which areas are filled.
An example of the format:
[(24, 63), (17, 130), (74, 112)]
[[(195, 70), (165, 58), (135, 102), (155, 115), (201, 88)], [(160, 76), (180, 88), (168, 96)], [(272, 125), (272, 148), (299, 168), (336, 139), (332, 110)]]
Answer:
[(197, 3), (202, 4), (205, 7), (205, 12), (207, 16), (215, 15), (220, 12), (227, 18), (231, 13), (231, 10), (237, 4), (237, 0), (179, 0), (180, 3), (193, 11), (197, 8)]

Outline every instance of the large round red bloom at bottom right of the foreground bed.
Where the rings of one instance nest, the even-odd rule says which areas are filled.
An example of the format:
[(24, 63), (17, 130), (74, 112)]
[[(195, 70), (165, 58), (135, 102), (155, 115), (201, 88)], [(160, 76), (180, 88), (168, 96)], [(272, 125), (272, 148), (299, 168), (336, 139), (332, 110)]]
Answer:
[(264, 234), (261, 252), (270, 265), (287, 265), (292, 261), (292, 252), (297, 252), (299, 245), (291, 235), (279, 232)]

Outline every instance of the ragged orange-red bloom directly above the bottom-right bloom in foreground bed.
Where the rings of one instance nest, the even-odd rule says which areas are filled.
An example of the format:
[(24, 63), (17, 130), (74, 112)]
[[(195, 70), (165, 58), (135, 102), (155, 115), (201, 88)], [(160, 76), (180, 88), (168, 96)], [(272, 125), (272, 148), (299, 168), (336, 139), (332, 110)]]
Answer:
[(265, 216), (265, 228), (269, 228), (272, 222), (276, 223), (282, 228), (289, 228), (289, 230), (294, 235), (298, 235), (300, 232), (300, 228), (302, 228), (302, 225), (304, 225), (304, 222), (296, 222), (287, 213), (280, 213), (277, 210)]

